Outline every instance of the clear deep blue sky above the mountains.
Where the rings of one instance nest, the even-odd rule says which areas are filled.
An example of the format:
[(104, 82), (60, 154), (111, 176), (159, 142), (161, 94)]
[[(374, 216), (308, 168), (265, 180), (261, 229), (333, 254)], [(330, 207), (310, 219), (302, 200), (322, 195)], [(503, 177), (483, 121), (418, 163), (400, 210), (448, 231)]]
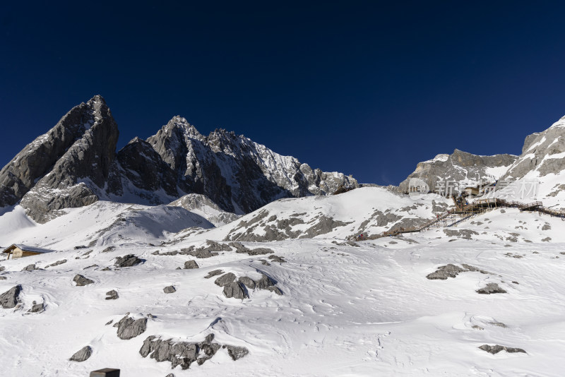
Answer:
[(119, 148), (179, 114), (378, 184), (455, 148), (519, 154), (565, 114), (557, 2), (7, 3), (1, 166), (95, 94)]

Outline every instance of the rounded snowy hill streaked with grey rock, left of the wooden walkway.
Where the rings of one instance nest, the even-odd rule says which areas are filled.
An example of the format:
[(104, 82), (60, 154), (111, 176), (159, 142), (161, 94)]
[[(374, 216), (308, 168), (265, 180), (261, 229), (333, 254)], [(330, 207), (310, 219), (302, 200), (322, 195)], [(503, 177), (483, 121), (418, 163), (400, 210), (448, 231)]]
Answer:
[(391, 227), (423, 224), (450, 203), (431, 194), (413, 200), (382, 187), (357, 188), (336, 196), (280, 199), (196, 239), (280, 241), (283, 239), (379, 234)]

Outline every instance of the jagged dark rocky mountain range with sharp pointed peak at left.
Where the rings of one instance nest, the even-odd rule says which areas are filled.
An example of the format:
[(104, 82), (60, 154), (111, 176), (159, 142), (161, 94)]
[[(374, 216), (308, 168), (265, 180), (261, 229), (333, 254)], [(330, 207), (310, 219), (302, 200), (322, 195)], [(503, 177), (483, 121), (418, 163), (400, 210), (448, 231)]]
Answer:
[(0, 171), (0, 207), (20, 202), (33, 220), (47, 222), (100, 199), (155, 205), (198, 193), (242, 215), (278, 198), (357, 187), (349, 176), (313, 170), (244, 136), (202, 136), (179, 116), (116, 153), (118, 136), (99, 95), (73, 107)]

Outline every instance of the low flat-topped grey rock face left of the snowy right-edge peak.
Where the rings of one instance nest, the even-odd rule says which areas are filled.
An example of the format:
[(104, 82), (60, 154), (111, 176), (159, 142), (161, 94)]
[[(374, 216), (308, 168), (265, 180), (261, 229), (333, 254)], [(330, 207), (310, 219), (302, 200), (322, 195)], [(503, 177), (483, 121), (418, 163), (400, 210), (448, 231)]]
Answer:
[(509, 167), (518, 157), (514, 155), (479, 156), (461, 150), (451, 155), (437, 155), (433, 160), (417, 164), (415, 172), (399, 185), (400, 191), (408, 193), (410, 179), (422, 179), (431, 191), (436, 190), (438, 180), (462, 181), (470, 177), (481, 177), (495, 181), (497, 177), (487, 174), (489, 167)]

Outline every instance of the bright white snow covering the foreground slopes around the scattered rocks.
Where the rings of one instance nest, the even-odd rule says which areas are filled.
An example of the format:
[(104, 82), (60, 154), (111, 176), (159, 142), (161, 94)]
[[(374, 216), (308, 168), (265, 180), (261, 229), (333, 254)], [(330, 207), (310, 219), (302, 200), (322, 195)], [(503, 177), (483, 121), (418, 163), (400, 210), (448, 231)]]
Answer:
[[(20, 307), (0, 309), (3, 376), (78, 377), (102, 367), (119, 368), (125, 377), (171, 372), (177, 377), (561, 376), (561, 220), (503, 209), (458, 227), (343, 242), (367, 220), (364, 229), (377, 232), (402, 221), (394, 220), (397, 215), (433, 216), (434, 204), (438, 209), (441, 203), (436, 196), (418, 203), (383, 188), (359, 188), (338, 196), (277, 201), (262, 209), (267, 215), (258, 210), (217, 229), (179, 207), (98, 202), (44, 225), (13, 208), (0, 216), (5, 230), (0, 244), (27, 242), (57, 252), (0, 263), (5, 268), (0, 277), (6, 278), (0, 280), (0, 293), (18, 284), (23, 288)], [(387, 218), (387, 213), (394, 216)], [(303, 220), (291, 227), (298, 237), (237, 245), (223, 241), (248, 229), (263, 234), (265, 225), (276, 221), (267, 222), (271, 216)], [(321, 216), (350, 224), (309, 234)], [(385, 220), (386, 226), (379, 225)], [(265, 225), (254, 228), (262, 221)], [(186, 227), (192, 228), (180, 230)], [(299, 238), (304, 235), (314, 238)], [(204, 247), (214, 253), (206, 255)], [(195, 250), (204, 254), (189, 253)], [(256, 250), (266, 254), (253, 255)], [(115, 266), (116, 258), (126, 254), (142, 263)], [(269, 258), (273, 255), (285, 262)], [(186, 261), (196, 261), (199, 268), (177, 269)], [(22, 271), (32, 263), (43, 269)], [(426, 278), (448, 263), (484, 273)], [(282, 295), (246, 289), (249, 298), (227, 298), (214, 284), (216, 277), (205, 278), (218, 269), (254, 280), (267, 275)], [(75, 286), (76, 274), (93, 284)], [(507, 293), (475, 292), (489, 283)], [(165, 294), (169, 285), (176, 292)], [(112, 289), (119, 298), (105, 300)], [(32, 301), (43, 303), (45, 311), (28, 313)], [(112, 325), (126, 313), (148, 318), (147, 329), (121, 340)], [(232, 361), (219, 349), (186, 371), (179, 366), (171, 371), (170, 362), (140, 354), (150, 335), (202, 342), (210, 334), (218, 344), (245, 347), (249, 354)], [(485, 344), (526, 353), (488, 354), (478, 348)], [(90, 359), (69, 361), (86, 345), (93, 349)]]

